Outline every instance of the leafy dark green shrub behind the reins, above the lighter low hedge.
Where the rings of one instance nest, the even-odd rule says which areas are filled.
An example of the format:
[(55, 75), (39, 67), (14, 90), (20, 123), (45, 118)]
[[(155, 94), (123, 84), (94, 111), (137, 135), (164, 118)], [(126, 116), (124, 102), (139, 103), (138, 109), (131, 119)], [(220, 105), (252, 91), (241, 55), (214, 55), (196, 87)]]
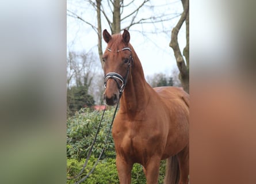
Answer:
[[(100, 132), (98, 133), (92, 155), (97, 158), (105, 146), (114, 109), (106, 110), (104, 120), (102, 121)], [(97, 132), (103, 112), (93, 111), (89, 109), (81, 109), (75, 116), (67, 120), (67, 157), (73, 159), (86, 158), (91, 144)], [(114, 158), (114, 143), (110, 132), (109, 139), (106, 144), (106, 151), (102, 158)]]

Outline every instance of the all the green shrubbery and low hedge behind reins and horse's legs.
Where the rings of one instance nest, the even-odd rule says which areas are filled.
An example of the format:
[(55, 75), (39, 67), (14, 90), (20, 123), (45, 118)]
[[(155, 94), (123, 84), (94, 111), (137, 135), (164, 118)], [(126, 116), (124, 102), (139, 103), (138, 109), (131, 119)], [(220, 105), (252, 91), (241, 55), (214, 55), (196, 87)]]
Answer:
[[(84, 108), (75, 113), (74, 116), (67, 120), (67, 177), (74, 177), (81, 171), (85, 163), (86, 156), (93, 143), (98, 124), (101, 120), (103, 112), (91, 111), (89, 108)], [(93, 154), (83, 171), (78, 178), (85, 177), (90, 169), (93, 167), (102, 148), (104, 148), (104, 141), (110, 128), (110, 122), (114, 108), (108, 109), (105, 112), (104, 120), (101, 124), (101, 129), (98, 134), (96, 143), (93, 147)], [(105, 184), (105, 183), (119, 183), (119, 178), (116, 170), (116, 153), (114, 151), (114, 143), (112, 135), (106, 144), (106, 151), (101, 157), (100, 162), (95, 167), (93, 174), (90, 175), (82, 183), (88, 184)], [(160, 175), (158, 183), (163, 183), (165, 177), (165, 161), (162, 161), (160, 168)], [(75, 180), (75, 181), (78, 181)], [(68, 184), (75, 183), (73, 179), (67, 179)], [(146, 178), (140, 164), (134, 164), (132, 169), (132, 184), (146, 183)]]

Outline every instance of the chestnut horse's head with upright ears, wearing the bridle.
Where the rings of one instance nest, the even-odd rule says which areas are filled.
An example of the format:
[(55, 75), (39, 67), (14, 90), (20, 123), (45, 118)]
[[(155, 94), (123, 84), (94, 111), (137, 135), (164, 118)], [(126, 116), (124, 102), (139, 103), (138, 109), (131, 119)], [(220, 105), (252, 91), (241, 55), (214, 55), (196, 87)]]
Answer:
[(107, 105), (116, 105), (131, 74), (133, 59), (129, 47), (130, 34), (124, 30), (123, 34), (111, 35), (105, 29), (103, 38), (108, 44), (102, 57), (105, 63), (104, 99)]

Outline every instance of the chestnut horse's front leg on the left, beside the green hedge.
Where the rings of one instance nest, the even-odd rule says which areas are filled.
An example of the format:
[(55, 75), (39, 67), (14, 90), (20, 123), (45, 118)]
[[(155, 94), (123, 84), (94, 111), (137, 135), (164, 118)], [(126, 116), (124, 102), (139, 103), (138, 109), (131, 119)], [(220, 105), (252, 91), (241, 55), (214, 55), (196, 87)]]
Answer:
[(119, 175), (120, 184), (130, 184), (131, 183), (131, 172), (132, 163), (128, 163), (124, 158), (117, 155), (116, 156), (116, 167), (117, 173)]

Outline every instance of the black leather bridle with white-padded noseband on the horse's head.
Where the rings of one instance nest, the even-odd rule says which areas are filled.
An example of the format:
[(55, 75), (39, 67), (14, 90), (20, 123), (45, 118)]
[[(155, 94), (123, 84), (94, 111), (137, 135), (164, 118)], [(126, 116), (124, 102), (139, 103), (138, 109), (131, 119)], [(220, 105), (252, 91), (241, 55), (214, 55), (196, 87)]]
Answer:
[[(109, 52), (112, 52), (112, 50), (110, 48), (106, 48)], [(116, 81), (117, 83), (117, 86), (119, 87), (119, 94), (120, 94), (120, 97), (121, 95), (123, 94), (123, 91), (124, 91), (124, 87), (126, 86), (127, 84), (127, 78), (128, 78), (128, 75), (129, 75), (129, 69), (130, 69), (130, 66), (133, 64), (133, 58), (132, 58), (132, 50), (129, 48), (129, 47), (125, 47), (121, 50), (118, 50), (116, 52), (120, 52), (120, 51), (125, 51), (125, 50), (128, 50), (131, 52), (130, 56), (129, 56), (129, 60), (128, 60), (128, 67), (127, 67), (127, 73), (125, 74), (125, 77), (123, 78), (123, 76), (121, 76), (120, 74), (117, 74), (116, 72), (109, 72), (108, 74), (105, 75), (105, 83), (104, 83), (104, 87), (106, 89), (106, 82), (108, 82), (108, 79), (114, 79), (114, 81)], [(132, 64), (131, 64), (132, 63)], [(121, 81), (122, 85), (120, 86), (119, 84), (119, 81)]]

